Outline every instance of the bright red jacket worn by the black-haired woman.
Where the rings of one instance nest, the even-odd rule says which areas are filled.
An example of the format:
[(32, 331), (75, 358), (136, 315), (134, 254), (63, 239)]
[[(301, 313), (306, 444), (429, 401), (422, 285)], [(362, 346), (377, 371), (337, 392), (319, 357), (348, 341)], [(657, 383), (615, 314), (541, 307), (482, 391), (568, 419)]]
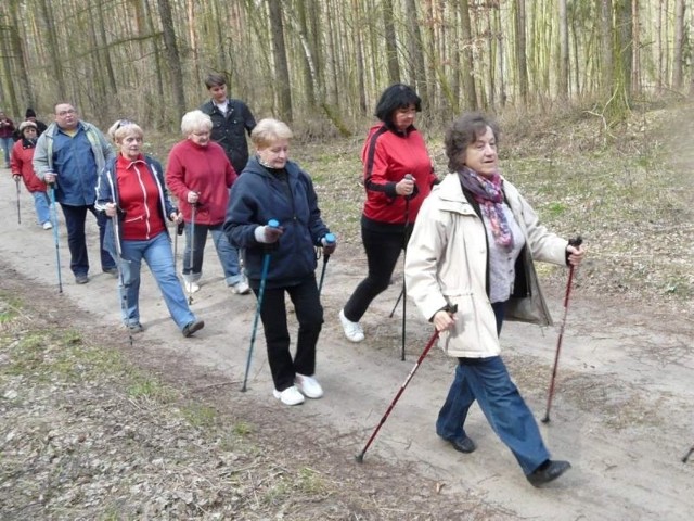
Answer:
[[(404, 224), (406, 209), (409, 209), (408, 219), (414, 223), (422, 202), (437, 180), (422, 135), (414, 127), (410, 127), (406, 134), (396, 134), (383, 124), (375, 125), (369, 130), (361, 150), (361, 161), (367, 189), (364, 217), (381, 224), (401, 226)], [(406, 208), (406, 198), (395, 191), (396, 183), (406, 174), (412, 174), (416, 185), (409, 208)]]

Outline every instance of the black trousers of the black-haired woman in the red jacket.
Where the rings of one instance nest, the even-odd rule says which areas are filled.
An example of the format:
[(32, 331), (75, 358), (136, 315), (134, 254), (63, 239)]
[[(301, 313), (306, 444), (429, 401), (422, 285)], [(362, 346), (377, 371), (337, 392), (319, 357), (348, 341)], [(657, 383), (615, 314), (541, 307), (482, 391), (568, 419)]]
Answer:
[(344, 307), (345, 317), (352, 322), (361, 320), (371, 301), (390, 284), (393, 270), (404, 244), (404, 230), (382, 232), (362, 226), (361, 240), (367, 252), (369, 272), (367, 278), (359, 282)]

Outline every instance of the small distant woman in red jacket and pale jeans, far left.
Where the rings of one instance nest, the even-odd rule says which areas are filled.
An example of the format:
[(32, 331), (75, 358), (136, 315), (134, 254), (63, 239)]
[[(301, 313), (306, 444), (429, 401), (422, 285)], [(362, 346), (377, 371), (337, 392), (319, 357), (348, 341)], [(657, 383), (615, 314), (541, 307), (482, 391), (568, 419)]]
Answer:
[(20, 135), (22, 138), (12, 147), (12, 160), (10, 161), (12, 178), (15, 181), (22, 178), (24, 186), (34, 196), (34, 207), (36, 208), (39, 225), (41, 225), (44, 230), (50, 230), (53, 228), (53, 225), (51, 224), (50, 203), (48, 194), (46, 193), (47, 186), (34, 174), (34, 166), (31, 165), (37, 139), (36, 123), (22, 122), (20, 125)]

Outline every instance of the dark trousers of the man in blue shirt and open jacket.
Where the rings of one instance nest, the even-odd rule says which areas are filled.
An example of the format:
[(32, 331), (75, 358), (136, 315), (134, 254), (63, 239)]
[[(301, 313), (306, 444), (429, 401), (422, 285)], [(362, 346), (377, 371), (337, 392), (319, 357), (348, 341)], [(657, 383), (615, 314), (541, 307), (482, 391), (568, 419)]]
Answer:
[(85, 234), (85, 224), (87, 220), (87, 211), (97, 217), (99, 225), (99, 247), (101, 250), (101, 268), (110, 269), (116, 267), (116, 262), (111, 254), (104, 250), (104, 232), (106, 230), (106, 221), (108, 217), (101, 212), (94, 209), (94, 205), (89, 206), (70, 206), (61, 204), (63, 215), (65, 216), (65, 226), (67, 227), (67, 246), (69, 247), (69, 268), (73, 274), (87, 275), (89, 272), (89, 255), (87, 254), (87, 238)]

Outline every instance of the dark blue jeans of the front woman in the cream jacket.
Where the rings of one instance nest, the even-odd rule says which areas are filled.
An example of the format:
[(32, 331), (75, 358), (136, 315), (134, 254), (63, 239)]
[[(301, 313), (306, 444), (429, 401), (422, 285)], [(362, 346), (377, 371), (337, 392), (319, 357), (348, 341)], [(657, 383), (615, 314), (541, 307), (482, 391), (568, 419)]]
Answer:
[[(497, 331), (501, 332), (503, 303), (492, 307)], [(535, 417), (500, 356), (459, 358), (455, 378), (436, 421), (436, 433), (445, 440), (464, 437), (465, 419), (475, 399), (526, 475), (550, 458)]]

